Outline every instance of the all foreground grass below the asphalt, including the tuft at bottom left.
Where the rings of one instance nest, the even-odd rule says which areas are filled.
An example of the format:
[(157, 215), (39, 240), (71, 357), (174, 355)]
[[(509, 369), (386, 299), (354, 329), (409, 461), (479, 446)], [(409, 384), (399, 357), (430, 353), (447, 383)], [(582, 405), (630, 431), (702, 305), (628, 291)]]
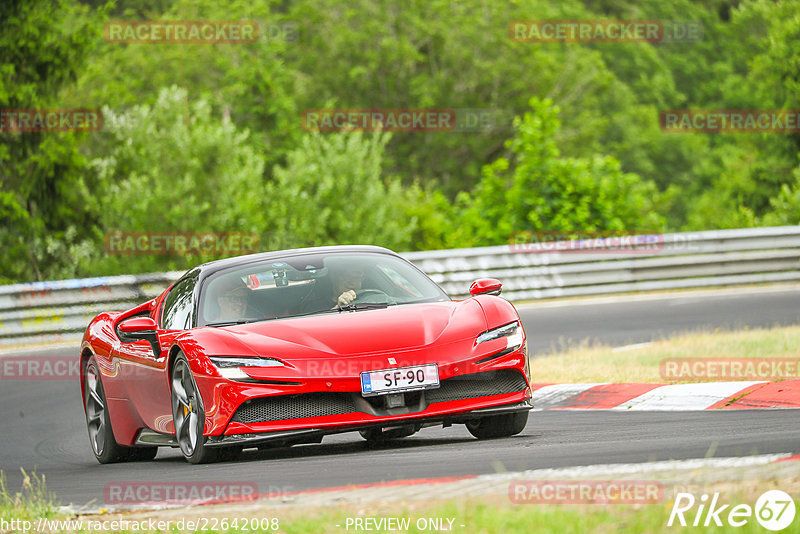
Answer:
[[(23, 471), (24, 483), (20, 492), (11, 494), (5, 485), (5, 478), (0, 474), (0, 514), (3, 519), (18, 519), (34, 521), (38, 517), (50, 519), (66, 519), (59, 515), (52, 495), (47, 491), (44, 477), (28, 475)], [(739, 483), (717, 483), (706, 486), (702, 491), (718, 491), (723, 496), (721, 503), (745, 503), (753, 506), (759, 494), (767, 489), (782, 488), (797, 495), (800, 489), (798, 477), (781, 479), (752, 480), (750, 484), (742, 486)], [(665, 491), (666, 495), (670, 495)], [(364, 503), (360, 505), (344, 505), (338, 508), (307, 508), (307, 507), (279, 507), (253, 509), (252, 505), (239, 508), (235, 505), (220, 505), (208, 507), (194, 507), (159, 512), (127, 512), (115, 514), (101, 514), (84, 516), (86, 522), (111, 521), (122, 519), (130, 522), (144, 521), (154, 514), (157, 520), (169, 519), (173, 524), (182, 518), (208, 519), (223, 518), (233, 521), (235, 518), (256, 518), (269, 520), (277, 517), (279, 527), (277, 530), (250, 530), (250, 529), (223, 529), (221, 532), (283, 532), (287, 534), (326, 534), (343, 532), (390, 532), (387, 530), (356, 530), (347, 528), (348, 519), (353, 518), (407, 518), (410, 520), (408, 530), (394, 532), (453, 532), (456, 534), (490, 534), (508, 532), (553, 532), (553, 533), (608, 533), (608, 534), (639, 534), (675, 532), (690, 529), (692, 532), (730, 532), (730, 527), (680, 527), (667, 526), (673, 502), (667, 498), (666, 502), (649, 505), (544, 505), (544, 504), (512, 504), (508, 497), (492, 495), (484, 498), (452, 498), (438, 501), (403, 501), (397, 503)], [(729, 508), (730, 509), (730, 508)], [(691, 523), (693, 513), (686, 514)], [(726, 519), (722, 514), (721, 519)], [(436, 531), (432, 529), (417, 528), (417, 521), (436, 518), (453, 519), (451, 531)], [(224, 523), (223, 523), (224, 525)], [(800, 514), (795, 522), (783, 532), (800, 532)], [(762, 533), (765, 530), (755, 518), (749, 518), (747, 525), (736, 528), (736, 532)], [(106, 531), (108, 532), (108, 531)], [(129, 531), (123, 531), (129, 532)], [(168, 532), (177, 532), (172, 530)], [(205, 532), (212, 532), (206, 530)], [(216, 531), (214, 531), (216, 532)]]

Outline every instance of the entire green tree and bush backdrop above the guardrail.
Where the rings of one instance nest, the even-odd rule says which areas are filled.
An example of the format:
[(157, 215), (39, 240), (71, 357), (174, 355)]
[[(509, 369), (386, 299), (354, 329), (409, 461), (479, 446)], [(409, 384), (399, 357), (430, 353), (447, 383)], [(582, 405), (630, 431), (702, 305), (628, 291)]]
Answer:
[[(530, 44), (530, 19), (702, 24), (695, 42)], [(256, 20), (251, 44), (111, 44), (107, 20)], [(666, 109), (800, 109), (800, 2), (0, 0), (0, 283), (182, 269), (123, 231), (261, 247), (496, 245), (528, 230), (800, 223), (800, 135), (662, 132)], [(474, 132), (303, 130), (309, 108), (480, 108)]]

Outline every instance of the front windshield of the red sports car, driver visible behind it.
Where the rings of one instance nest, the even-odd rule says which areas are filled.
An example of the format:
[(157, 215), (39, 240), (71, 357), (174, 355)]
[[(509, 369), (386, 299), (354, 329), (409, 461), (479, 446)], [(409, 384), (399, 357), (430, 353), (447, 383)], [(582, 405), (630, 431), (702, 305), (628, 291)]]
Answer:
[(204, 281), (198, 326), (375, 309), (450, 298), (402, 258), (311, 253), (250, 263)]

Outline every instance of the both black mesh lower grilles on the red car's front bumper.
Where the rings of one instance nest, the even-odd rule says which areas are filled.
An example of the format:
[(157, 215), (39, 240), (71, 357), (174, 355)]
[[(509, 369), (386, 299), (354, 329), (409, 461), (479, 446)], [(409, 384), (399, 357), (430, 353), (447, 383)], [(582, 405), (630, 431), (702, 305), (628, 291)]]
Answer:
[[(442, 380), (440, 387), (425, 391), (425, 402), (447, 402), (490, 395), (516, 393), (527, 387), (514, 369), (487, 371)], [(407, 401), (412, 394), (407, 394)], [(418, 395), (418, 393), (417, 393)], [(416, 398), (416, 397), (415, 397)], [(368, 400), (375, 400), (370, 397)], [(414, 401), (416, 403), (417, 401)], [(373, 405), (373, 408), (377, 406)], [(303, 417), (322, 417), (358, 412), (350, 393), (303, 393), (262, 397), (242, 404), (233, 416), (236, 423), (263, 423)], [(376, 410), (377, 411), (377, 410)], [(378, 413), (380, 415), (380, 412)]]

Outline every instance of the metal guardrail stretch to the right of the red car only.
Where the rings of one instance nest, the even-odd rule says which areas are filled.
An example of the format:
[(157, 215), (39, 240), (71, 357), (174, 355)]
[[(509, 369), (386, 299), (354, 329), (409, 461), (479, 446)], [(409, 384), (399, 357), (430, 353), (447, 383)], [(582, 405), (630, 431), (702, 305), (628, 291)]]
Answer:
[(642, 236), (628, 248), (601, 241), (553, 252), (553, 243), (521, 243), (404, 256), (450, 295), (491, 277), (509, 300), (800, 280), (800, 226)]

